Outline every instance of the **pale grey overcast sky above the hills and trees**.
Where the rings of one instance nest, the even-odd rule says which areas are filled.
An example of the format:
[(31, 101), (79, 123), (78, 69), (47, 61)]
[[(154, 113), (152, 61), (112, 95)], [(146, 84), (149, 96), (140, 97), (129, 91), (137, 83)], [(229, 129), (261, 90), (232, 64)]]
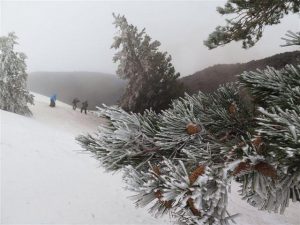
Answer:
[(296, 47), (280, 47), (287, 30), (297, 31), (299, 15), (267, 27), (261, 41), (244, 50), (241, 43), (208, 50), (203, 40), (224, 17), (216, 12), (225, 1), (3, 1), (1, 35), (14, 31), (18, 50), (27, 56), (32, 71), (99, 71), (115, 73), (110, 49), (116, 33), (112, 13), (161, 42), (182, 76), (219, 63), (246, 62)]

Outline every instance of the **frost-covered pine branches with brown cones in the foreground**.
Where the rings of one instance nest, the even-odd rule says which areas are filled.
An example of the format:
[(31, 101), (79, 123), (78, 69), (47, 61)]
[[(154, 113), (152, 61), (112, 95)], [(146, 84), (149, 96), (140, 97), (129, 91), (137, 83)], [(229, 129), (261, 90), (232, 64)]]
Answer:
[(107, 123), (77, 140), (108, 171), (123, 171), (138, 206), (183, 224), (231, 223), (229, 187), (283, 213), (300, 201), (300, 65), (244, 72), (215, 92), (156, 114), (99, 108)]

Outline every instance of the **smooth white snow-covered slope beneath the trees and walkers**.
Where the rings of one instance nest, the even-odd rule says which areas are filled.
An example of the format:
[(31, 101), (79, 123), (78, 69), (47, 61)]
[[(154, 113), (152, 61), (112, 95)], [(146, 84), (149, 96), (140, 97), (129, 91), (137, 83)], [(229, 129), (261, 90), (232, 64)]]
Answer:
[[(81, 151), (74, 137), (103, 121), (34, 94), (32, 118), (1, 111), (1, 224), (168, 224), (136, 209), (120, 174), (108, 174)], [(240, 200), (236, 185), (230, 213), (238, 225), (300, 225), (300, 204), (285, 215), (260, 212)]]

